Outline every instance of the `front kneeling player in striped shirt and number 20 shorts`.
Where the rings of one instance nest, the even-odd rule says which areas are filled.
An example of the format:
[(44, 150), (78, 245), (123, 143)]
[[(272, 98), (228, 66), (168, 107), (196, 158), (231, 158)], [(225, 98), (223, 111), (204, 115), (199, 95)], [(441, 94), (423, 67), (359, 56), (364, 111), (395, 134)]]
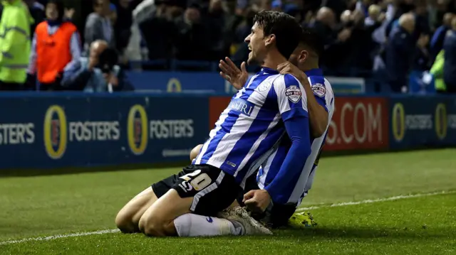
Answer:
[[(278, 178), (252, 198), (260, 210), (299, 179), (303, 158), (311, 153), (304, 88), (292, 75), (275, 68), (286, 62), (299, 43), (301, 27), (285, 13), (262, 11), (247, 36), (249, 62), (264, 63), (222, 112), (204, 143), (195, 164), (147, 188), (118, 213), (123, 232), (138, 229), (150, 236), (202, 236), (220, 234), (269, 234), (242, 208), (230, 211), (231, 219), (205, 217), (229, 207), (244, 181), (256, 170), (286, 131), (291, 148)], [(282, 120), (282, 121), (281, 121)], [(241, 216), (241, 217), (240, 217)], [(248, 218), (248, 219), (247, 219)]]

